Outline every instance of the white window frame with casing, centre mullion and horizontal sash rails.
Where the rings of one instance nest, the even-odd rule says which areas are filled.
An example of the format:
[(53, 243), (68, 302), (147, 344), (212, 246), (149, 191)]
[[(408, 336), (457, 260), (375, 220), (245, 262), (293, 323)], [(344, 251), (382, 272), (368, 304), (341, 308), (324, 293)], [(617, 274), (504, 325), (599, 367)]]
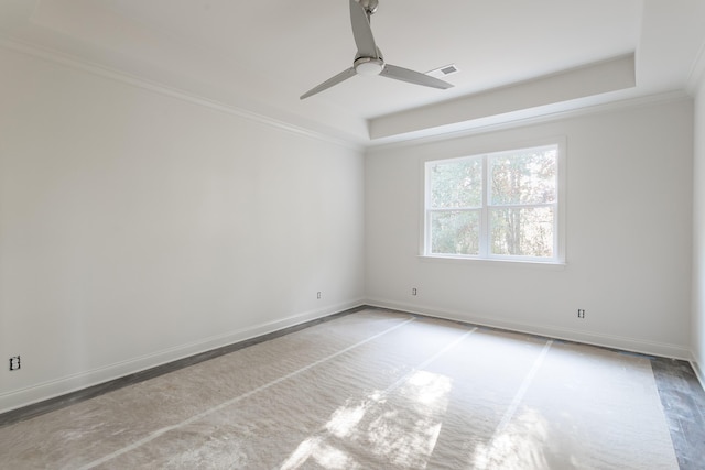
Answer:
[[(554, 204), (534, 204), (534, 205), (521, 205), (520, 207), (541, 207), (541, 206), (551, 206), (554, 208), (554, 237), (553, 237), (553, 256), (552, 258), (538, 258), (538, 256), (521, 256), (521, 255), (502, 255), (502, 254), (492, 254), (489, 250), (490, 244), (490, 233), (489, 233), (489, 214), (491, 207), (500, 207), (500, 206), (490, 206), (488, 201), (490, 200), (491, 195), (491, 185), (489, 182), (489, 159), (491, 156), (501, 155), (501, 154), (511, 154), (514, 152), (520, 152), (530, 149), (539, 149), (539, 147), (549, 147), (556, 146), (557, 147), (557, 174), (556, 174), (556, 184), (557, 184), (557, 194), (556, 201)], [(433, 211), (430, 208), (430, 172), (429, 168), (433, 164), (444, 163), (444, 162), (457, 162), (463, 160), (473, 160), (473, 159), (481, 159), (482, 160), (482, 205), (481, 208), (459, 208), (460, 210), (480, 210), (480, 244), (479, 244), (479, 254), (477, 255), (466, 255), (466, 254), (441, 254), (441, 253), (432, 253), (431, 251), (431, 212)], [(468, 152), (465, 155), (454, 156), (454, 157), (444, 157), (444, 159), (425, 159), (422, 163), (422, 218), (421, 220), (421, 243), (420, 243), (420, 256), (424, 259), (438, 259), (438, 260), (460, 260), (460, 261), (502, 261), (502, 262), (519, 262), (519, 263), (539, 263), (539, 264), (556, 264), (564, 265), (565, 264), (565, 221), (566, 221), (566, 210), (565, 210), (565, 199), (566, 199), (566, 188), (565, 188), (565, 175), (566, 175), (566, 142), (565, 138), (551, 138), (545, 140), (536, 140), (529, 142), (516, 143), (512, 145), (496, 145), (494, 147), (488, 147), (485, 151), (477, 152)], [(514, 206), (505, 206), (505, 207), (514, 207)], [(437, 210), (437, 209), (436, 209)], [(458, 208), (453, 208), (448, 210), (458, 210)]]

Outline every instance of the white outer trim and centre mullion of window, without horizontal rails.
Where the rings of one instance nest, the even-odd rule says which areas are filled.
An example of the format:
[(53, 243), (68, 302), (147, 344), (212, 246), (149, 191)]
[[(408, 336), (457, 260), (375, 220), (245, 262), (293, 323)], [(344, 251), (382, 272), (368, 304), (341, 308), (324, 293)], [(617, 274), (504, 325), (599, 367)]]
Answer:
[[(478, 255), (465, 255), (465, 254), (438, 254), (431, 252), (431, 239), (426, 239), (426, 233), (430, 233), (431, 223), (429, 210), (426, 210), (426, 205), (429, 203), (429, 192), (430, 187), (430, 174), (427, 174), (426, 168), (429, 163), (436, 162), (448, 162), (460, 159), (473, 159), (473, 157), (482, 157), (485, 163), (482, 164), (482, 197), (484, 197), (484, 207), (491, 207), (487, 203), (489, 201), (489, 192), (491, 190), (489, 182), (488, 182), (488, 172), (489, 172), (489, 159), (488, 155), (491, 154), (501, 154), (501, 153), (510, 153), (524, 149), (534, 149), (541, 146), (557, 146), (557, 200), (555, 203), (555, 214), (556, 220), (554, 222), (555, 238), (554, 238), (554, 256), (553, 258), (535, 258), (535, 256), (516, 256), (516, 255), (501, 255), (501, 254), (491, 254), (489, 253), (489, 209), (481, 210), (481, 225), (480, 225), (480, 254)], [(497, 142), (495, 145), (486, 145), (482, 147), (470, 149), (469, 152), (465, 152), (459, 155), (454, 156), (442, 156), (435, 157), (430, 156), (425, 159), (421, 159), (421, 223), (420, 226), (420, 242), (419, 242), (419, 258), (423, 260), (443, 260), (451, 262), (471, 262), (471, 263), (519, 263), (522, 265), (565, 265), (565, 253), (566, 253), (566, 139), (565, 136), (553, 136), (545, 139), (536, 139), (530, 141), (519, 141), (513, 143), (502, 144), (501, 142)], [(529, 207), (538, 207), (529, 206)], [(551, 205), (553, 206), (553, 205)], [(485, 250), (482, 250), (482, 245)]]

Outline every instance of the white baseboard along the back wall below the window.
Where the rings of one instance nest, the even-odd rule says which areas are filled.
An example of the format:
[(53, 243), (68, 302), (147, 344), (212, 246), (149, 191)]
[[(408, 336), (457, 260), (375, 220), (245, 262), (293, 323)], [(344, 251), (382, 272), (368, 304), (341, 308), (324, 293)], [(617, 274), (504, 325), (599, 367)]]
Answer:
[(582, 342), (605, 348), (614, 348), (650, 356), (660, 356), (664, 358), (681, 359), (686, 361), (692, 358), (691, 351), (680, 345), (669, 345), (614, 335), (598, 335), (551, 325), (508, 321), (497, 318), (484, 317), (481, 315), (475, 315), (468, 311), (438, 309), (430, 306), (411, 305), (380, 298), (368, 298), (366, 300), (366, 305), (391, 308), (395, 310), (408, 311), (411, 314), (427, 315), (431, 317), (444, 318), (449, 320), (465, 321), (474, 325), (501, 328), (511, 331), (546, 336), (555, 339)]

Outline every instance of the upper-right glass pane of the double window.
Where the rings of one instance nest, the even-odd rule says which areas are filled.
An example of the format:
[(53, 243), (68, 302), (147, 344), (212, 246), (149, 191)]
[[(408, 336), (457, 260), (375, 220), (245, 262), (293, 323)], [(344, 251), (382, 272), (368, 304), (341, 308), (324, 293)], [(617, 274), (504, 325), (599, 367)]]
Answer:
[(491, 205), (556, 200), (557, 147), (527, 149), (491, 156)]

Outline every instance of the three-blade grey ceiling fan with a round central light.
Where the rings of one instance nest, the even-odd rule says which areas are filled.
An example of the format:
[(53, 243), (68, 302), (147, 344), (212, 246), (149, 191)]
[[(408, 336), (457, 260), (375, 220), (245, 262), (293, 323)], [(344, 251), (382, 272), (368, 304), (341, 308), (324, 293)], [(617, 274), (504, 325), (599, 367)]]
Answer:
[(352, 62), (352, 67), (306, 91), (301, 96), (301, 99), (308, 98), (310, 96), (326, 90), (357, 74), (381, 75), (395, 80), (441, 89), (451, 88), (453, 86), (452, 84), (438, 78), (431, 77), (420, 72), (387, 64), (384, 62), (382, 52), (377, 47), (377, 44), (375, 44), (375, 36), (372, 35), (372, 29), (370, 28), (370, 17), (375, 14), (378, 7), (379, 0), (350, 0), (350, 23), (352, 23), (352, 35), (355, 36), (355, 43), (357, 45), (357, 54)]

